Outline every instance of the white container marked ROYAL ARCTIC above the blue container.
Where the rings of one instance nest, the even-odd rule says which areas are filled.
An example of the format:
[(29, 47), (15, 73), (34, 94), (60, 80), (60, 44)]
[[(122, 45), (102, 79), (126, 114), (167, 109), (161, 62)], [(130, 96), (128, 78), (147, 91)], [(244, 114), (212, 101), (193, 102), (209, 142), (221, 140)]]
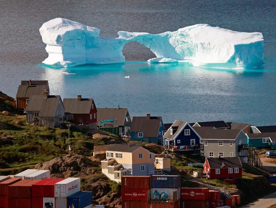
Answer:
[(67, 178), (55, 184), (55, 197), (67, 197), (80, 191), (80, 178)]

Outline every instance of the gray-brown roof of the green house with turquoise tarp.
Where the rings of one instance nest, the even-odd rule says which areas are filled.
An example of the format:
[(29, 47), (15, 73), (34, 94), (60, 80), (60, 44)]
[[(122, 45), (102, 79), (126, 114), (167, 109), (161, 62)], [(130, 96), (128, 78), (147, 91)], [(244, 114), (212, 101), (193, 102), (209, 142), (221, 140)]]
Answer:
[(116, 119), (116, 125), (123, 126), (126, 119), (126, 113), (127, 108), (97, 108), (97, 119), (98, 121)]

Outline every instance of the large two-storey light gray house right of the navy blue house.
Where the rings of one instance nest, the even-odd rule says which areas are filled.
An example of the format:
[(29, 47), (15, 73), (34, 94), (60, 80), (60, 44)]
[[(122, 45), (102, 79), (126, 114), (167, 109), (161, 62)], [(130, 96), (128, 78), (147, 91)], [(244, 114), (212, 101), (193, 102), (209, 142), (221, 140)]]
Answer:
[[(204, 144), (206, 157), (247, 157), (247, 150), (239, 145), (247, 144), (247, 135), (240, 129), (215, 129), (214, 127), (193, 127)], [(243, 161), (244, 162), (244, 161)]]

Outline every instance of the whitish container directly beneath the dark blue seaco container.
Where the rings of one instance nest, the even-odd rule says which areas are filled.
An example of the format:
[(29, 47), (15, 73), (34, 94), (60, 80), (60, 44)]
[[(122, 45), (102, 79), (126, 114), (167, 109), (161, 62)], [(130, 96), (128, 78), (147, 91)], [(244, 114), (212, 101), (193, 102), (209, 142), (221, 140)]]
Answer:
[(158, 201), (159, 196), (156, 194), (162, 194), (162, 192), (168, 194), (168, 200), (172, 200), (174, 202), (180, 200), (180, 188), (152, 188), (150, 190), (150, 199), (153, 201)]

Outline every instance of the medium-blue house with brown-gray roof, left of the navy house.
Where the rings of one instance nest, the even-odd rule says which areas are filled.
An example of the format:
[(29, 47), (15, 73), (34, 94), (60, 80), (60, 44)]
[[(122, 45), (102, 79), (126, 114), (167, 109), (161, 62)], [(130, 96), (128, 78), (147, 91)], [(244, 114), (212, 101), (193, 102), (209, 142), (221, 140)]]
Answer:
[(131, 123), (131, 140), (163, 144), (164, 123), (162, 117), (134, 116)]

